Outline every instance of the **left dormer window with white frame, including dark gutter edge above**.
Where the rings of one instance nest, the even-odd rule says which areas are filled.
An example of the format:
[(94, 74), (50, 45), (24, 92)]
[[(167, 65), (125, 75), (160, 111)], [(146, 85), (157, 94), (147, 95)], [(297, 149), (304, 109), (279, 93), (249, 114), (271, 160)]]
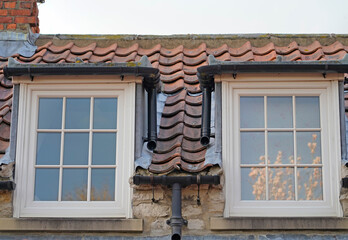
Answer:
[(5, 71), (19, 92), (14, 216), (132, 217), (136, 85), (156, 89), (158, 70), (146, 58), (42, 66), (11, 61)]

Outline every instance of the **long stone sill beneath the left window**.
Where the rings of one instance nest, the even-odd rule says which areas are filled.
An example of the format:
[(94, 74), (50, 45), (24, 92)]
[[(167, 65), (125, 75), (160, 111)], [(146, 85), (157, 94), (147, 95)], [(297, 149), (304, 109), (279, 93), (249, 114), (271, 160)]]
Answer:
[(0, 218), (0, 232), (142, 232), (142, 219), (16, 219)]

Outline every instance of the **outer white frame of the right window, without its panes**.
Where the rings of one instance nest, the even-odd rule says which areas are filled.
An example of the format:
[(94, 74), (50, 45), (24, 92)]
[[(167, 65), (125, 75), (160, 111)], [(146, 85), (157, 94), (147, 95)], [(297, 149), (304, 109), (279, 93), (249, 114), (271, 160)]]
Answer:
[[(225, 217), (342, 216), (339, 204), (340, 125), (338, 78), (255, 75), (239, 81), (223, 76), (222, 146), (225, 170)], [(318, 81), (320, 79), (320, 81)], [(333, 81), (330, 81), (333, 80)], [(242, 201), (240, 183), (239, 97), (241, 95), (319, 96), (322, 128), (323, 201)]]

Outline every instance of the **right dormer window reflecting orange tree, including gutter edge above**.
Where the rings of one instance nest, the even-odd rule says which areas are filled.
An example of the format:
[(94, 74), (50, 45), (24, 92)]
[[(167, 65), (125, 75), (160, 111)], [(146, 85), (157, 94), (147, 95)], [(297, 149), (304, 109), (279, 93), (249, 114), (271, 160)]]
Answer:
[(210, 63), (198, 72), (202, 87), (215, 80), (222, 89), (225, 216), (341, 216), (338, 83), (347, 64)]

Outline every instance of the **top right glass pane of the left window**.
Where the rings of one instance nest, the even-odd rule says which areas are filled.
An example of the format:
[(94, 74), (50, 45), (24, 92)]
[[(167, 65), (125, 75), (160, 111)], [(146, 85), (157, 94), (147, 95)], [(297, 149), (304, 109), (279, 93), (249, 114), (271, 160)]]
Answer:
[(95, 98), (93, 128), (116, 129), (117, 98)]

